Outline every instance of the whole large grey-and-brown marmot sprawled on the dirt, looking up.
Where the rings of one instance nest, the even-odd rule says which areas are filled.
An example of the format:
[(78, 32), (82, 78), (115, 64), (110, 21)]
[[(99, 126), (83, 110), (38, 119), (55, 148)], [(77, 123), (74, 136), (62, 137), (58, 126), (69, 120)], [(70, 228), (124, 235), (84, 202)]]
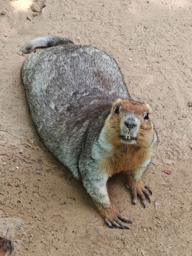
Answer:
[(110, 202), (106, 183), (124, 172), (133, 203), (146, 206), (149, 186), (141, 180), (157, 141), (148, 104), (133, 101), (110, 54), (67, 38), (40, 37), (22, 51), (29, 55), (22, 80), (32, 120), (46, 147), (81, 179), (105, 222), (127, 228)]

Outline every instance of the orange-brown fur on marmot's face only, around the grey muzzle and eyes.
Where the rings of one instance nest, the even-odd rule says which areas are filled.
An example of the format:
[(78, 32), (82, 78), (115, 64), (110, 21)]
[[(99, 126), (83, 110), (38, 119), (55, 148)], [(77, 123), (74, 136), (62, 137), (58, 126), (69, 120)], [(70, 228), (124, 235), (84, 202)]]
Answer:
[[(116, 107), (119, 107), (119, 114), (115, 113)], [(144, 116), (149, 113), (149, 119), (144, 119)], [(107, 138), (114, 146), (121, 146), (119, 135), (121, 133), (121, 124), (126, 115), (133, 114), (137, 117), (137, 139), (134, 141), (135, 147), (148, 147), (153, 139), (154, 129), (151, 121), (152, 109), (149, 104), (140, 103), (131, 100), (117, 99), (111, 109), (110, 116), (105, 122), (105, 128), (108, 132)], [(126, 143), (125, 143), (126, 144)], [(129, 144), (126, 144), (129, 146)]]

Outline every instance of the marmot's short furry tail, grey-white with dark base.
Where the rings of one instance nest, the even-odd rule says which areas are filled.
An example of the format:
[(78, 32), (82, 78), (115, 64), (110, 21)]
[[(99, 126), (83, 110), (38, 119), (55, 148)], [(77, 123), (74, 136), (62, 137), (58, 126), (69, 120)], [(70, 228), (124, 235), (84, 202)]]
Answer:
[(36, 48), (46, 48), (52, 47), (59, 44), (73, 44), (67, 38), (61, 38), (58, 36), (45, 36), (45, 37), (38, 37), (36, 39), (31, 40), (28, 44), (26, 44), (21, 50), (23, 53), (30, 53), (32, 50)]

